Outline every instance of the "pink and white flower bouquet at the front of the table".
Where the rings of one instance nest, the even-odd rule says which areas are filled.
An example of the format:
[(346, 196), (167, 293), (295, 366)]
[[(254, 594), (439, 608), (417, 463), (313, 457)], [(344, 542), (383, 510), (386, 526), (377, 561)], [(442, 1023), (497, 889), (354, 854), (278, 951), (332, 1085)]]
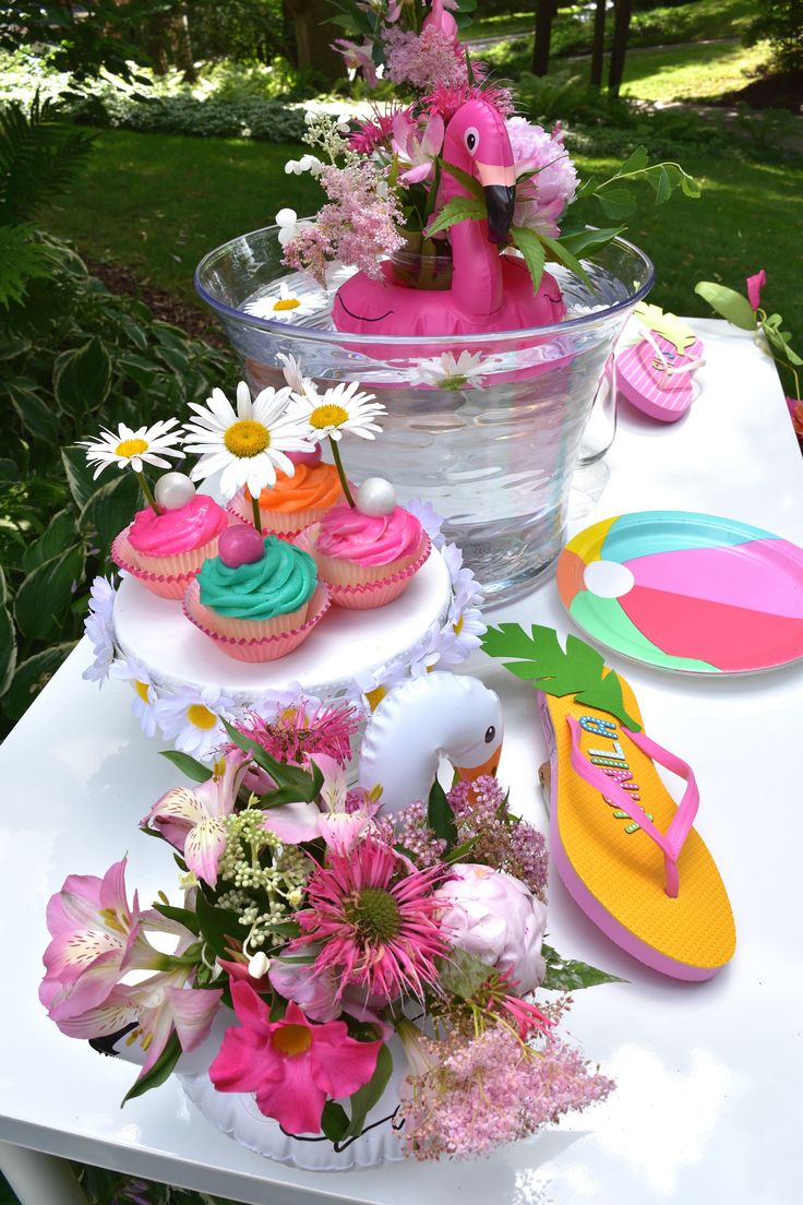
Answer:
[(193, 783), (141, 824), (171, 847), (181, 903), (131, 898), (125, 858), (69, 876), (40, 997), (66, 1035), (141, 1050), (126, 1099), (223, 1010), (214, 1088), (255, 1094), (285, 1133), (343, 1150), (379, 1109), (408, 1156), (486, 1154), (612, 1091), (559, 1036), (566, 992), (610, 976), (544, 944), (544, 839), (497, 781), (436, 782), (383, 816), (379, 784), (347, 787), (355, 718), (301, 700), (225, 723), (211, 768), (182, 757)]

